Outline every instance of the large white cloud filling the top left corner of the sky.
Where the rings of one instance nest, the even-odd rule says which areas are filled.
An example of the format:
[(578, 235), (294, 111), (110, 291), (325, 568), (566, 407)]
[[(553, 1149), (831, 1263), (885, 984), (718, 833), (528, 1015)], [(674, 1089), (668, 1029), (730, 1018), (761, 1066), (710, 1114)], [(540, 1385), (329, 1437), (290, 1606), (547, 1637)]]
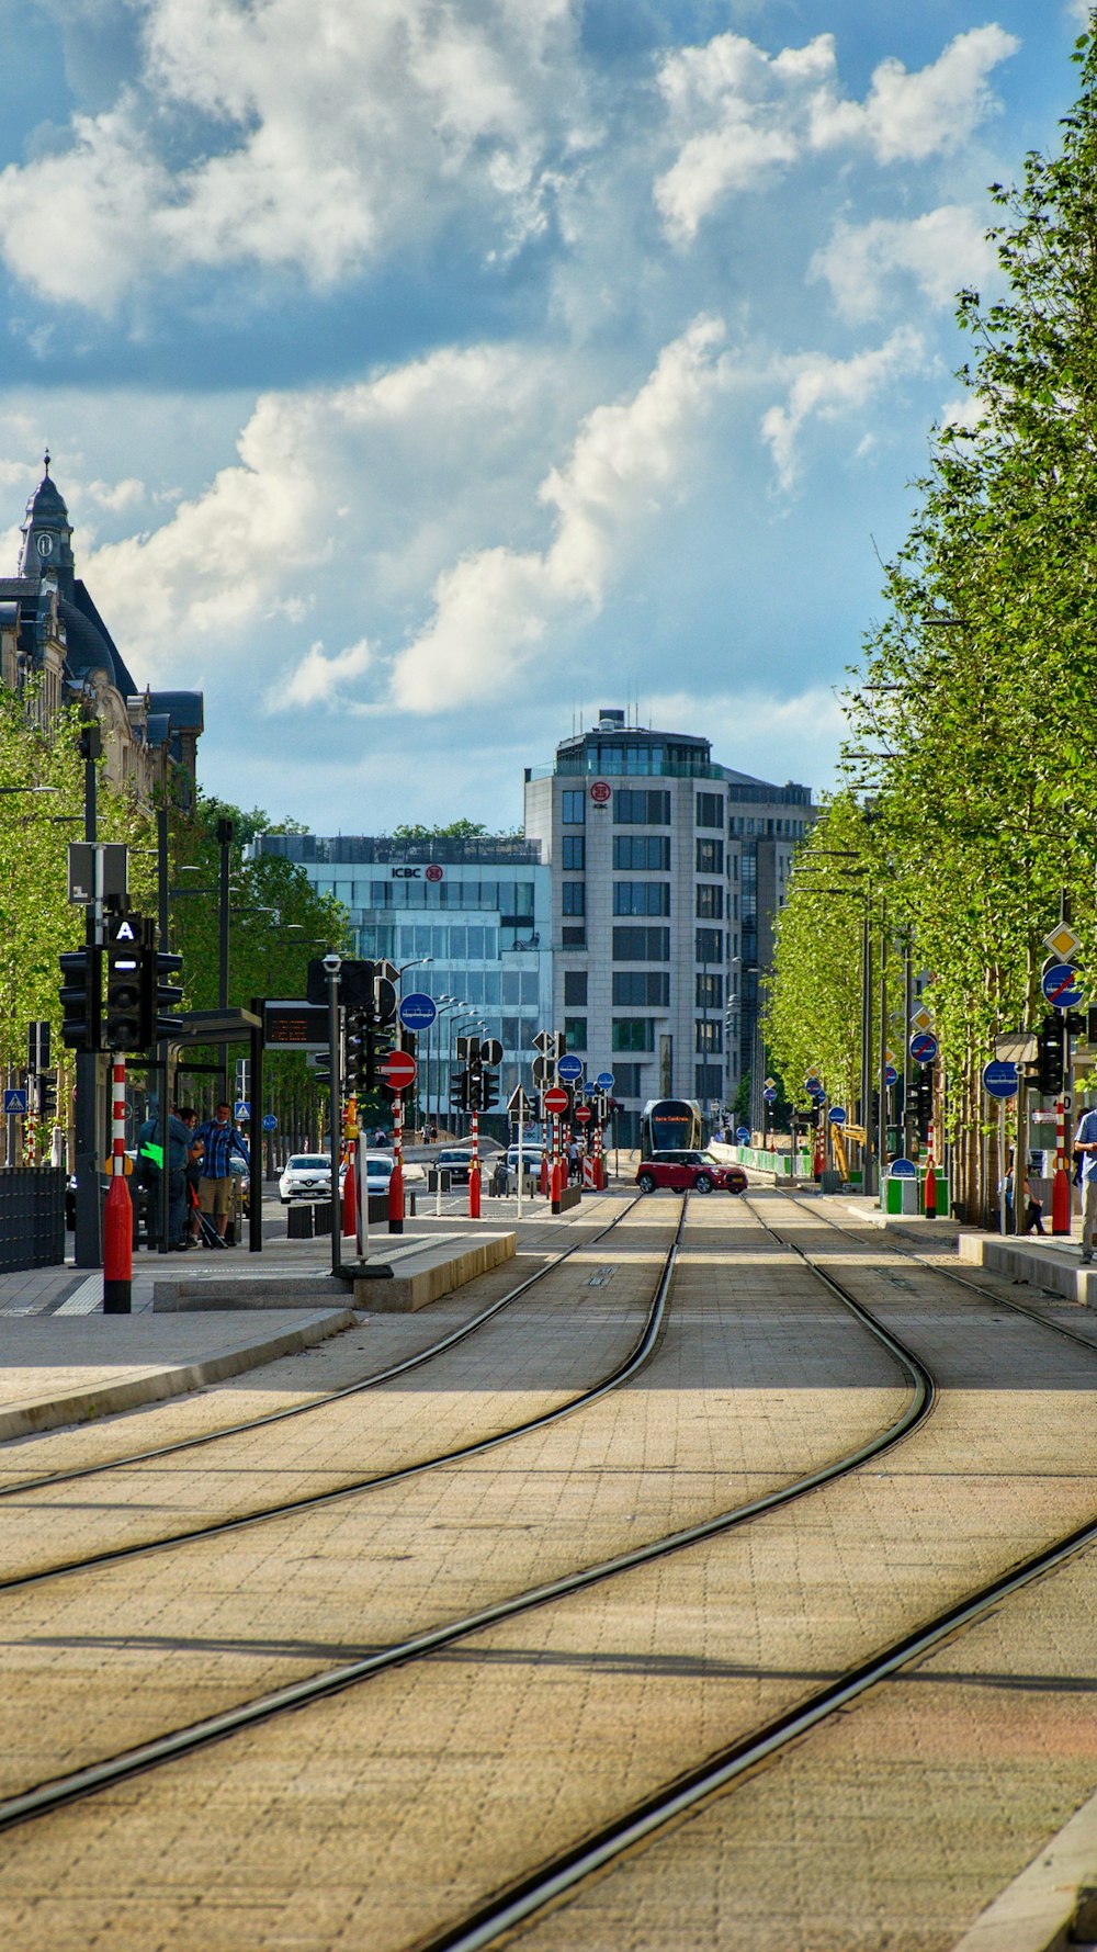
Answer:
[(463, 209), (513, 244), (588, 141), (574, 37), (572, 0), (144, 0), (139, 82), (0, 174), (0, 248), (49, 299), (109, 312), (187, 265), (330, 285)]

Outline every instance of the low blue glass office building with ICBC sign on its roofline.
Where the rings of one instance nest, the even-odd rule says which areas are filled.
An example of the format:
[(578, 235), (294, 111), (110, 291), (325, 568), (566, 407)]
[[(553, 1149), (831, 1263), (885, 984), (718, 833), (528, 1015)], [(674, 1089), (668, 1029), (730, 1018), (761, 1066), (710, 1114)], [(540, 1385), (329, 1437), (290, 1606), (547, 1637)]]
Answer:
[(254, 851), (297, 861), (349, 912), (355, 955), (394, 962), (404, 994), (433, 996), (439, 1019), (420, 1044), (431, 1111), (449, 1105), (463, 1031), (502, 1042), (504, 1105), (515, 1083), (531, 1089), (533, 1038), (552, 1021), (550, 873), (537, 841), (260, 834)]

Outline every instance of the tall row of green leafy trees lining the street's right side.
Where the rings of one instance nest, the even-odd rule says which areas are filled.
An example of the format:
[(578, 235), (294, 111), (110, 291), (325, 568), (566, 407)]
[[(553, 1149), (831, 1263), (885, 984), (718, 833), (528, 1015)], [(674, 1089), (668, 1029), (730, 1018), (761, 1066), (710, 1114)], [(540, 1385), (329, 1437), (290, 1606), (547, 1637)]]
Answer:
[[(771, 1064), (849, 1103), (861, 937), (914, 943), (941, 1040), (955, 1197), (994, 1202), (982, 1066), (1042, 1011), (1064, 912), (1097, 947), (1097, 51), (1054, 156), (992, 187), (1001, 295), (964, 291), (964, 410), (935, 429), (917, 511), (845, 707), (843, 787), (798, 857), (767, 1001)], [(880, 931), (882, 921), (882, 931)], [(1093, 968), (1093, 962), (1089, 964)]]

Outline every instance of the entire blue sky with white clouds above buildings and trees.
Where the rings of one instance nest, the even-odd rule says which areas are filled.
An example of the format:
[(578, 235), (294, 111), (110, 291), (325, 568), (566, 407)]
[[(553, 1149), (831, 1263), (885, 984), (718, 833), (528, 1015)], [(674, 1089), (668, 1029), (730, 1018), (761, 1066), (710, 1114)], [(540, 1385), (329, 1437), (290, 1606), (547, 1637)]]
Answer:
[(521, 822), (601, 705), (826, 787), (1077, 0), (0, 0), (0, 562), (49, 443), (209, 791)]

